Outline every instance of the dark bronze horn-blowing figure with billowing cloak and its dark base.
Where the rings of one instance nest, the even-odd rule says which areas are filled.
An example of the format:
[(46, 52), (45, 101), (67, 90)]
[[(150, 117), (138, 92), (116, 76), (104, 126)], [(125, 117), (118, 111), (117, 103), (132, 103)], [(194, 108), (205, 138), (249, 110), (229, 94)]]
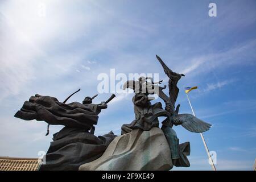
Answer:
[(97, 125), (98, 114), (115, 96), (113, 94), (101, 104), (92, 104), (94, 97), (85, 97), (82, 104), (64, 104), (55, 97), (36, 94), (25, 101), (14, 115), (24, 120), (45, 121), (49, 125), (64, 125), (53, 134), (53, 142), (39, 170), (78, 170), (81, 164), (91, 162), (104, 153), (116, 135), (110, 132), (96, 137), (93, 125)]

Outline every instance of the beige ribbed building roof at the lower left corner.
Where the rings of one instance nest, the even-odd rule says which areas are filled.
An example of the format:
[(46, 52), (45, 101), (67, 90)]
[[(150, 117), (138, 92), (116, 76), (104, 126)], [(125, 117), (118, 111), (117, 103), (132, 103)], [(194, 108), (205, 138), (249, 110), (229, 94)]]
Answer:
[(36, 158), (0, 157), (0, 171), (36, 171), (38, 166)]

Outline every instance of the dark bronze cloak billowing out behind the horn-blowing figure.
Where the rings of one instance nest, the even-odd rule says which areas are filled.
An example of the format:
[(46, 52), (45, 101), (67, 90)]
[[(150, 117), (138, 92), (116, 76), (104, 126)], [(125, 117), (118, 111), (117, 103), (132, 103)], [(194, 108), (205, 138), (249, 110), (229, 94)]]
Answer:
[(93, 125), (97, 125), (98, 113), (97, 105), (81, 104), (72, 102), (64, 104), (57, 98), (50, 96), (40, 96), (36, 94), (25, 101), (22, 108), (14, 117), (37, 121), (45, 121), (50, 125), (64, 125), (90, 130)]

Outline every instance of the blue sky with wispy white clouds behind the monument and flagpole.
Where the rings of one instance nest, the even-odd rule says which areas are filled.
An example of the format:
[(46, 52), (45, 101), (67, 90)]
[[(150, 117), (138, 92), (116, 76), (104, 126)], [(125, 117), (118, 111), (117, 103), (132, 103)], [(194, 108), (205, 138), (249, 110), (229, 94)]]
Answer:
[[(217, 17), (208, 5), (217, 5)], [(256, 157), (255, 1), (0, 1), (0, 156), (37, 157), (53, 133), (46, 123), (13, 115), (35, 93), (60, 101), (82, 101), (97, 93), (100, 73), (159, 73), (155, 55), (179, 82), (180, 113), (213, 127), (204, 133), (220, 170), (251, 170)], [(42, 14), (42, 7), (46, 7)], [(100, 94), (95, 102), (106, 100)], [(134, 119), (133, 94), (119, 94), (102, 111), (96, 135), (120, 134)], [(156, 100), (159, 101), (159, 100)], [(175, 127), (180, 142), (191, 142), (190, 168), (210, 170), (200, 135)]]

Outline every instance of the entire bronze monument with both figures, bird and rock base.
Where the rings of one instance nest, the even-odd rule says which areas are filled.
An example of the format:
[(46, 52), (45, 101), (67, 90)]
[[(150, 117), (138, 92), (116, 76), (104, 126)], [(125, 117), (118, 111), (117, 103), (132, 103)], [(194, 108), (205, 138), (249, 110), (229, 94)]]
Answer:
[[(177, 82), (185, 75), (173, 72), (159, 56), (156, 58), (168, 77), (168, 96), (163, 92), (167, 86), (160, 86), (162, 80), (154, 82), (151, 77), (140, 77), (125, 82), (123, 89), (134, 90), (135, 118), (122, 125), (119, 136), (112, 132), (102, 137), (94, 135), (93, 125), (97, 125), (98, 114), (107, 108), (114, 94), (101, 104), (92, 104), (97, 95), (85, 97), (82, 104), (65, 104), (67, 100), (59, 102), (55, 97), (39, 94), (25, 101), (15, 117), (64, 125), (53, 135), (46, 164), (42, 164), (40, 170), (170, 170), (174, 166), (189, 167), (190, 144), (179, 143), (173, 126), (181, 125), (188, 131), (202, 133), (211, 125), (191, 114), (179, 114), (180, 104), (175, 109), (179, 94)], [(164, 109), (161, 102), (151, 104), (154, 94), (164, 102)], [(161, 127), (159, 117), (165, 117)]]

